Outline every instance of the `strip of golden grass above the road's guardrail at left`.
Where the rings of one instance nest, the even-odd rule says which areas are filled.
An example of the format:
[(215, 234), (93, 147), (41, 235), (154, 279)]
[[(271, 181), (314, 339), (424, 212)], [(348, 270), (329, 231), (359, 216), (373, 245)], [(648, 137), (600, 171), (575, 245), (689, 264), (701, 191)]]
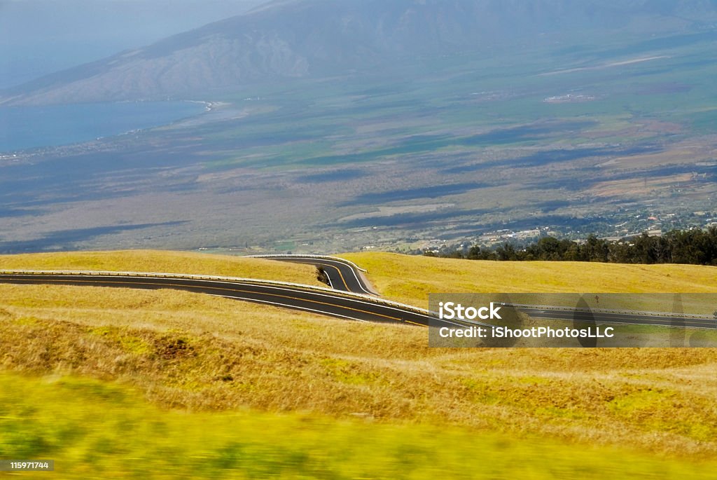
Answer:
[(196, 273), (326, 286), (317, 280), (315, 268), (311, 265), (279, 263), (262, 258), (157, 250), (0, 255), (0, 269)]

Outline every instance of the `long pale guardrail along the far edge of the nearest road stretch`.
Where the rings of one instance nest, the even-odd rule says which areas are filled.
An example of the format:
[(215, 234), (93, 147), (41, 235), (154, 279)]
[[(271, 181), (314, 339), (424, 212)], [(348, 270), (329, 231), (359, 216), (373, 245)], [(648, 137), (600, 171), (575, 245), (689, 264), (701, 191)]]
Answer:
[(261, 280), (258, 278), (240, 278), (240, 277), (222, 277), (211, 275), (195, 275), (191, 273), (151, 273), (151, 272), (115, 272), (105, 270), (0, 270), (0, 276), (3, 275), (37, 275), (37, 276), (114, 276), (114, 277), (134, 277), (134, 278), (177, 278), (180, 280), (199, 280), (199, 281), (219, 281), (226, 283), (250, 283), (252, 285), (261, 286), (281, 286), (295, 288), (299, 290), (315, 291), (317, 293), (328, 293), (331, 296), (343, 296), (345, 298), (353, 298), (355, 300), (369, 301), (379, 305), (385, 305), (396, 309), (413, 311), (414, 313), (434, 316), (434, 312), (420, 309), (417, 306), (399, 303), (397, 301), (386, 300), (364, 293), (353, 293), (346, 291), (337, 291), (333, 288), (306, 285), (304, 283), (281, 282), (275, 280)]

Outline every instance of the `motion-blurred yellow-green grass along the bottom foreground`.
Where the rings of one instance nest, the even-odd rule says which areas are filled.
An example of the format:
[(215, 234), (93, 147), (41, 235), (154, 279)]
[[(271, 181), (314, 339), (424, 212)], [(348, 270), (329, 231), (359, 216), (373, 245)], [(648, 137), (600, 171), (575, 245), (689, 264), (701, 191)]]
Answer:
[[(0, 458), (33, 478), (714, 479), (717, 463), (310, 413), (161, 410), (128, 387), (0, 375)], [(9, 476), (0, 473), (1, 476)]]

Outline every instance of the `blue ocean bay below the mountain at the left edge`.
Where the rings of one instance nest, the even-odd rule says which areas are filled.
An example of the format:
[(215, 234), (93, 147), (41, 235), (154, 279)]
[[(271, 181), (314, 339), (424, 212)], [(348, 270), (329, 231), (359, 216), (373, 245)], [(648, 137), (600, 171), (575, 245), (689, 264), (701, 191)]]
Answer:
[(204, 110), (204, 104), (191, 102), (0, 107), (0, 153), (119, 135), (166, 125)]

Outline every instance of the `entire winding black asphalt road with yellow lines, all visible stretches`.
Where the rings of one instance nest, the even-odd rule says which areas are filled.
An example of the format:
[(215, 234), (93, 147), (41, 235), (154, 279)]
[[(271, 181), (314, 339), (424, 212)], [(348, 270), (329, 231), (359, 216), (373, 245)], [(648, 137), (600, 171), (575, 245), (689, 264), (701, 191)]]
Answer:
[[(341, 258), (305, 255), (262, 255), (262, 258), (310, 263), (323, 268), (332, 288), (250, 278), (198, 276), (175, 273), (0, 270), (0, 283), (95, 286), (191, 291), (236, 300), (308, 311), (355, 321), (372, 321), (417, 326), (463, 328), (475, 321), (438, 319), (437, 314), (376, 296), (359, 267)], [(510, 306), (507, 304), (505, 306)], [(558, 306), (515, 305), (533, 319), (595, 321), (599, 323), (647, 324), (691, 328), (717, 328), (708, 316), (674, 316), (642, 311), (579, 311)], [(481, 324), (489, 326), (488, 324)]]

